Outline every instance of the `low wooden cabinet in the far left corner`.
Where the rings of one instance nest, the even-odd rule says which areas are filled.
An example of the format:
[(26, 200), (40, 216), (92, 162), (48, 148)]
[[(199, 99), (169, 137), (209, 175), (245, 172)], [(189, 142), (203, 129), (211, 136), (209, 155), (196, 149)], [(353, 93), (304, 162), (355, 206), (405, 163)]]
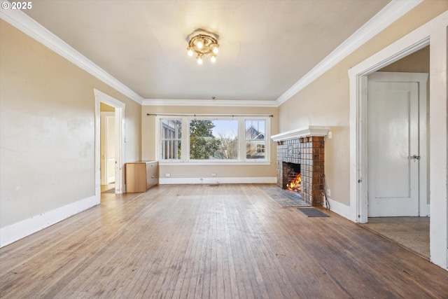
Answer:
[(125, 165), (126, 192), (146, 192), (159, 183), (159, 163), (132, 162)]

